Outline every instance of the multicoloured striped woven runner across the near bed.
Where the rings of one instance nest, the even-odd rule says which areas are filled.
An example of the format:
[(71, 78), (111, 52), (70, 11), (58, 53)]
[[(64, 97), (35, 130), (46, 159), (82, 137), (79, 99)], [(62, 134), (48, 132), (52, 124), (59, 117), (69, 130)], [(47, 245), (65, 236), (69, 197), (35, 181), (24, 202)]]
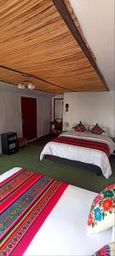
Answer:
[(25, 168), (1, 183), (0, 255), (26, 251), (67, 185)]

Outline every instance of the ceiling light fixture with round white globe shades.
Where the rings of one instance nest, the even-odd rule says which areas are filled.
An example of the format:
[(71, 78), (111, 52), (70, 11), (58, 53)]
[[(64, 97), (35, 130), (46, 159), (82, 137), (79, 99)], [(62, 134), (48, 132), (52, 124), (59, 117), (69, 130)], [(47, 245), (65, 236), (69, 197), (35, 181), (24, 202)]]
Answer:
[(26, 86), (29, 90), (35, 89), (35, 84), (32, 84), (30, 81), (31, 75), (29, 73), (22, 73), (23, 80), (18, 84), (18, 89), (26, 89)]

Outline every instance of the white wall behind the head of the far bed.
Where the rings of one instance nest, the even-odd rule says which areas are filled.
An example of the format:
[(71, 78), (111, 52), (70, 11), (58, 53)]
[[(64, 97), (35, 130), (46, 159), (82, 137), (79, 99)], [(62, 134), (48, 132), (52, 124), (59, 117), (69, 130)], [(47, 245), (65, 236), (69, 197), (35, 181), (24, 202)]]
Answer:
[[(65, 104), (69, 103), (66, 112)], [(109, 135), (115, 136), (115, 92), (80, 92), (64, 94), (63, 122), (70, 127), (82, 121), (83, 124), (106, 126)]]

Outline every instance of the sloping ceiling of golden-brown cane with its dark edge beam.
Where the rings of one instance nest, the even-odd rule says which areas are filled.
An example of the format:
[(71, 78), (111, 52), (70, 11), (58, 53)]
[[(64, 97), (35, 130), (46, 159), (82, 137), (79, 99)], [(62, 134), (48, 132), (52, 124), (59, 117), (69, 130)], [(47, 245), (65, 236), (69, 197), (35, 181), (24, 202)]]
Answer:
[(30, 73), (36, 90), (108, 90), (68, 1), (0, 1), (0, 80)]

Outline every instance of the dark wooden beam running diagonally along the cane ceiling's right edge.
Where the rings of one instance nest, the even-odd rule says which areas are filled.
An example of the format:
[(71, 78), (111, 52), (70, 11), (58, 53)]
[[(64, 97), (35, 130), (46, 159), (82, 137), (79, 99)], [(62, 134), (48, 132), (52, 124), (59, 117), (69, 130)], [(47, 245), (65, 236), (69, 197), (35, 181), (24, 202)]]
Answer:
[(66, 22), (66, 26), (68, 26), (69, 30), (72, 32), (72, 36), (76, 39), (77, 43), (83, 49), (83, 53), (88, 58), (91, 65), (95, 68), (95, 72), (98, 74), (98, 76), (101, 79), (101, 82), (105, 84), (106, 90), (109, 90), (106, 84), (106, 80), (104, 79), (103, 75), (101, 74), (100, 69), (97, 67), (95, 60), (93, 59), (92, 55), (89, 52), (89, 49), (87, 45), (85, 44), (78, 27), (75, 25), (74, 21), (72, 20), (72, 16), (69, 13), (69, 10), (66, 7), (66, 4), (63, 0), (52, 0), (52, 2), (55, 4), (56, 9), (60, 13), (60, 16), (62, 19)]

